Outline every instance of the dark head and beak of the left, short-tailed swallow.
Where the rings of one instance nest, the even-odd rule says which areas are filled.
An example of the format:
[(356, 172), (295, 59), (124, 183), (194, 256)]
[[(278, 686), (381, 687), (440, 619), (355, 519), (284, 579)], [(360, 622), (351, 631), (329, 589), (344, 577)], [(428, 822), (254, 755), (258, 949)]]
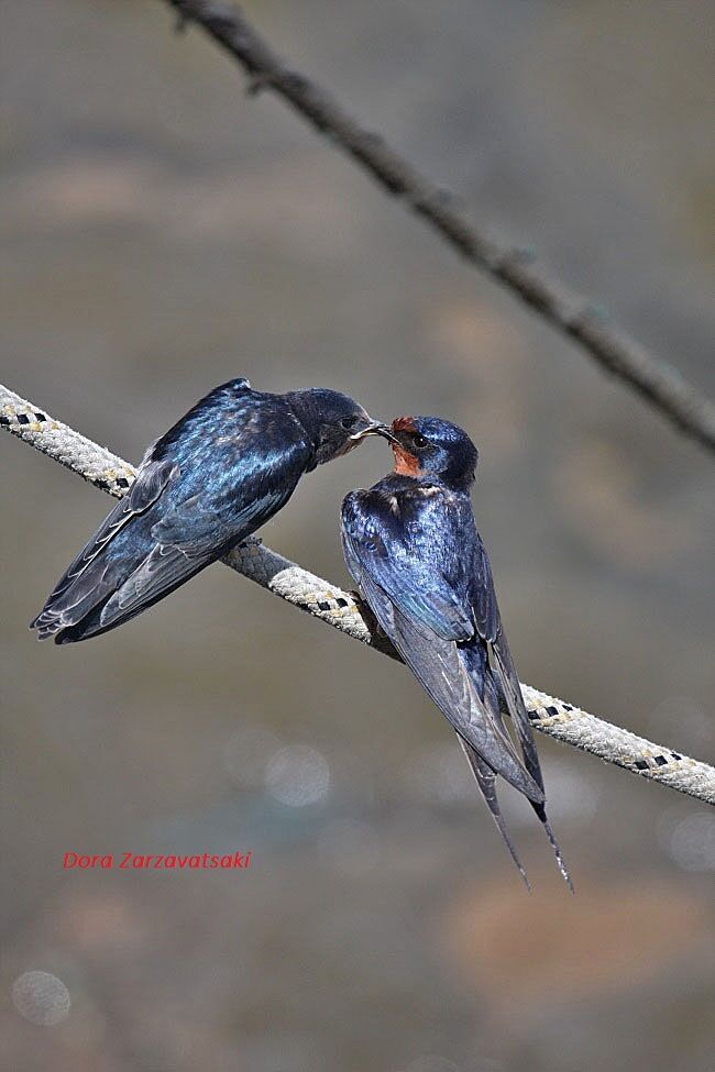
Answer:
[(365, 435), (384, 429), (359, 402), (337, 390), (311, 387), (289, 391), (286, 398), (312, 441), (316, 465), (346, 454)]

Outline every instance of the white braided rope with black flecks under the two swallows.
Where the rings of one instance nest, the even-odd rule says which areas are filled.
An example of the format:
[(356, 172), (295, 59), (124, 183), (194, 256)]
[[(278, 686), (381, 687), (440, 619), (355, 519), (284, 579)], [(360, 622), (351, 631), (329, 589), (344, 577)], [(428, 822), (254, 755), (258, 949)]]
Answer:
[[(0, 427), (96, 487), (121, 498), (136, 471), (103, 446), (54, 420), (38, 407), (0, 385)], [(398, 657), (372, 626), (353, 595), (329, 584), (251, 539), (223, 562), (286, 603), (320, 618), (354, 640)], [(535, 729), (564, 744), (591, 752), (632, 774), (661, 782), (680, 793), (715, 804), (715, 769), (637, 737), (571, 704), (521, 685)]]

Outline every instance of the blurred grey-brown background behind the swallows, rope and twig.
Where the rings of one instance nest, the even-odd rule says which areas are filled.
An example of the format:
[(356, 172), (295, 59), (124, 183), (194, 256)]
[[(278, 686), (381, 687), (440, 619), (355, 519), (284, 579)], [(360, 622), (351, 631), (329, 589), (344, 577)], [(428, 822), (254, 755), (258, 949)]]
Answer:
[[(706, 0), (245, 7), (715, 394)], [(2, 380), (132, 461), (237, 375), (459, 421), (522, 679), (712, 761), (712, 458), (164, 4), (4, 3), (1, 49)], [(266, 542), (348, 583), (340, 499), (389, 460), (367, 443), (308, 477)], [(221, 567), (36, 644), (110, 505), (0, 442), (8, 1069), (712, 1072), (704, 806), (540, 739), (578, 896), (505, 794), (527, 897), (409, 675)], [(123, 849), (254, 855), (62, 870)]]

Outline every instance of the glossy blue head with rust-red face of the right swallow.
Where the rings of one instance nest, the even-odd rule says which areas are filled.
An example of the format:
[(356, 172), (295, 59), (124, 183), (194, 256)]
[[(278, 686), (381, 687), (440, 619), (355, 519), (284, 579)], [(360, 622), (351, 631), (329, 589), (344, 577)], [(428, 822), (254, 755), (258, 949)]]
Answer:
[(389, 439), (396, 473), (436, 476), (459, 488), (473, 483), (476, 447), (458, 424), (439, 417), (398, 417), (392, 423)]

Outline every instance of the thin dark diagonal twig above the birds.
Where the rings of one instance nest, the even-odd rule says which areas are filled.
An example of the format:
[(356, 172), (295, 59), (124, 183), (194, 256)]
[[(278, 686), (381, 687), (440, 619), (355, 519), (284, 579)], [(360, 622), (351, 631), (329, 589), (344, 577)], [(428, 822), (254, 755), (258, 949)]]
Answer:
[(271, 89), (329, 135), (389, 194), (399, 197), (472, 265), (578, 342), (603, 368), (644, 396), (682, 432), (715, 451), (715, 405), (671, 365), (612, 323), (594, 302), (566, 290), (524, 250), (501, 245), (422, 176), (380, 134), (361, 126), (305, 75), (290, 70), (240, 9), (217, 0), (166, 0), (182, 20), (199, 24), (249, 75), (249, 93)]

